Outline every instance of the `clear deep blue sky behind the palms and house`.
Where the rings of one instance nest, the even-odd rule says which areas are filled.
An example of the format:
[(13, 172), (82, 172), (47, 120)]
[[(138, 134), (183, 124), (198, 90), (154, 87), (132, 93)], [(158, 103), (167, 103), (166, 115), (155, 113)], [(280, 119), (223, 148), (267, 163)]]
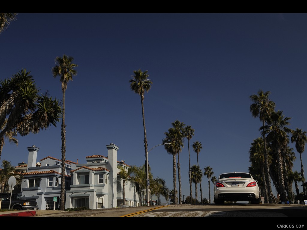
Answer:
[[(66, 159), (86, 163), (86, 156), (107, 156), (106, 145), (114, 143), (119, 161), (141, 166), (142, 107), (129, 80), (134, 70), (147, 70), (153, 82), (144, 99), (148, 150), (179, 120), (195, 130), (191, 165), (197, 165), (192, 144), (199, 141), (203, 171), (210, 166), (216, 177), (248, 172), (249, 149), (262, 125), (251, 116), (250, 95), (270, 91), (276, 110), (291, 117), (289, 128), (307, 131), (306, 22), (305, 13), (20, 13), (0, 34), (0, 78), (25, 68), (41, 94), (48, 90), (62, 100), (60, 78), (53, 78), (51, 69), (57, 56), (74, 57), (78, 73), (65, 94)], [(18, 146), (6, 141), (1, 161), (27, 163), (32, 145), (40, 149), (38, 160), (61, 159), (61, 123), (18, 136)], [(297, 157), (293, 171), (300, 171), (295, 144), (290, 147)], [(305, 153), (302, 158), (306, 165)], [(180, 163), (186, 197), (186, 139)], [(153, 176), (173, 189), (172, 155), (164, 146), (150, 151), (149, 164)], [(272, 189), (276, 194), (273, 184)], [(209, 198), (205, 176), (202, 191)]]

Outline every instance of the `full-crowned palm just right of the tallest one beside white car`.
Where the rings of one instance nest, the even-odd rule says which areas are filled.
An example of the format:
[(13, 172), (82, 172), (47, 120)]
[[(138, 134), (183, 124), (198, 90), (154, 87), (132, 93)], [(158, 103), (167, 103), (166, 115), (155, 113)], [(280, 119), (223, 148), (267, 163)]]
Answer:
[(286, 189), (284, 183), (284, 172), (283, 172), (283, 161), (281, 151), (286, 148), (286, 145), (289, 142), (287, 133), (291, 133), (291, 129), (287, 128), (287, 125), (290, 125), (290, 117), (284, 117), (282, 111), (278, 110), (277, 112), (272, 112), (270, 117), (266, 117), (267, 125), (261, 127), (263, 135), (267, 134), (267, 140), (272, 144), (272, 147), (275, 149), (278, 163), (278, 183), (280, 186), (280, 195), (281, 200), (286, 202)]

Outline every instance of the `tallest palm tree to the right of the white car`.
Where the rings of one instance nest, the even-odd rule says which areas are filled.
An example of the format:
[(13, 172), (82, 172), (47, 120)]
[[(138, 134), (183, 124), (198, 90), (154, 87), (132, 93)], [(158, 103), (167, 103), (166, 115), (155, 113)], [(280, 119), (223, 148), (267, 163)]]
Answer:
[[(258, 94), (252, 94), (250, 97), (253, 102), (250, 105), (250, 112), (252, 117), (259, 117), (260, 121), (262, 121), (262, 127), (265, 125), (265, 118), (270, 115), (272, 111), (274, 111), (275, 103), (269, 99), (270, 91), (263, 92), (262, 90), (258, 90)], [(264, 130), (263, 130), (264, 131)], [(271, 180), (270, 180), (270, 172), (269, 172), (269, 163), (267, 159), (267, 150), (266, 150), (266, 139), (265, 132), (263, 132), (263, 155), (265, 162), (265, 180), (264, 182), (264, 200), (265, 203), (276, 203), (274, 195), (272, 193)]]

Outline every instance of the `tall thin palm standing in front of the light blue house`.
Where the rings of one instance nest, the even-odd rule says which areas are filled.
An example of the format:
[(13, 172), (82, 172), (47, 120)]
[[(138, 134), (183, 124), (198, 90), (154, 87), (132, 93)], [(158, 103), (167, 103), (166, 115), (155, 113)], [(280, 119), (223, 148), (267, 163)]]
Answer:
[(60, 77), (60, 82), (62, 83), (63, 92), (63, 118), (61, 125), (61, 139), (62, 139), (62, 175), (61, 175), (61, 194), (60, 194), (60, 210), (65, 208), (65, 154), (66, 154), (66, 125), (65, 125), (65, 92), (67, 89), (67, 84), (72, 81), (73, 76), (77, 75), (77, 71), (74, 70), (78, 67), (73, 63), (74, 58), (63, 55), (63, 57), (56, 57), (55, 66), (52, 67), (52, 75), (54, 78)]

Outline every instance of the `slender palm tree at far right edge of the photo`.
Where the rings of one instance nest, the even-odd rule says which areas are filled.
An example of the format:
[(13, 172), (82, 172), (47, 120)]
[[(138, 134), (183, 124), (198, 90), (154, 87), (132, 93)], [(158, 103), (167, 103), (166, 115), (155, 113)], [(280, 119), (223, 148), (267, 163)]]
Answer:
[[(292, 132), (291, 143), (295, 142), (296, 151), (300, 154), (301, 159), (301, 176), (302, 182), (305, 183), (304, 177), (304, 166), (302, 161), (302, 153), (305, 150), (305, 143), (307, 142), (306, 131), (302, 131), (302, 129), (296, 128), (296, 130)], [(303, 186), (303, 193), (306, 195), (306, 187)]]

